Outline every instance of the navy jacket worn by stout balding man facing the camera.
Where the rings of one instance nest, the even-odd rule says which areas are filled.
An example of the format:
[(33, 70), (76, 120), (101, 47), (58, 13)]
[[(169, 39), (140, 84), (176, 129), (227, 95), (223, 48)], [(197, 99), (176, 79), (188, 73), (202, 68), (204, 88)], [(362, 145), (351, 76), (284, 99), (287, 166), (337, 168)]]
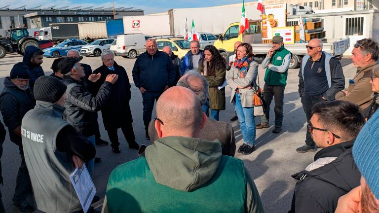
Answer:
[(166, 85), (175, 85), (174, 65), (170, 57), (159, 50), (154, 55), (144, 52), (138, 56), (132, 74), (136, 87), (148, 92), (162, 92)]

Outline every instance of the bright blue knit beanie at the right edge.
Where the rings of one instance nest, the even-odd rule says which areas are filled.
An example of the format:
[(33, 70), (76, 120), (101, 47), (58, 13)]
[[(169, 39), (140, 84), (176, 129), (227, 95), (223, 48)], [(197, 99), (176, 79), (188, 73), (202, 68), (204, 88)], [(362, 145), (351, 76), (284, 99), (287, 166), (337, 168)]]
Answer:
[(375, 197), (379, 198), (379, 110), (359, 132), (353, 158)]

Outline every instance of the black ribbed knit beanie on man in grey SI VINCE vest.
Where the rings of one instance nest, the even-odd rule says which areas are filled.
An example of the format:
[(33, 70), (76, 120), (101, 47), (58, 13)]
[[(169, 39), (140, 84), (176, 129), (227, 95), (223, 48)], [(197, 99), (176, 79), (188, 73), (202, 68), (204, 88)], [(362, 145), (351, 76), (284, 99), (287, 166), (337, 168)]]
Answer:
[(36, 101), (49, 103), (57, 102), (66, 92), (67, 86), (52, 76), (40, 76), (34, 84), (34, 98)]

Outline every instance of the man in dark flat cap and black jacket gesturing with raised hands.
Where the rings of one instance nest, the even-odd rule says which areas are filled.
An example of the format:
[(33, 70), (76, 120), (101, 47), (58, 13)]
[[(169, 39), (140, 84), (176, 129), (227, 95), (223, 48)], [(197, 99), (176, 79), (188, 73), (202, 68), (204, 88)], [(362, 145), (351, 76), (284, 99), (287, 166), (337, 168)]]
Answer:
[[(95, 133), (98, 125), (93, 119), (93, 113), (100, 111), (101, 107), (107, 102), (118, 75), (109, 74), (96, 95), (92, 95), (87, 90), (84, 82), (80, 80), (85, 76), (83, 67), (79, 63), (81, 59), (83, 59), (81, 56), (78, 58), (64, 58), (59, 62), (58, 67), (63, 74), (62, 82), (67, 86), (65, 98), (67, 122), (75, 128), (77, 133), (80, 133), (95, 145)], [(87, 87), (90, 88), (91, 85), (94, 87), (93, 83), (99, 80), (100, 76), (101, 73), (89, 75), (86, 83)], [(94, 159), (86, 162), (85, 165), (92, 176), (95, 168)]]

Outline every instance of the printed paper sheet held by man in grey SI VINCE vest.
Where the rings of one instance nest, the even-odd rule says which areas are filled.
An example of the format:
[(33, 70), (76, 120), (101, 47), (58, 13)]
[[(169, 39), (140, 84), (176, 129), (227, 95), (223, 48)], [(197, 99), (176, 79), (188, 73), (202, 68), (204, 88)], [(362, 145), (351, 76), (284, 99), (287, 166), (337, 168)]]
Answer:
[(70, 175), (70, 180), (73, 183), (77, 197), (79, 198), (81, 208), (83, 209), (83, 212), (86, 213), (96, 194), (96, 188), (84, 164), (81, 169), (77, 167), (74, 170)]

